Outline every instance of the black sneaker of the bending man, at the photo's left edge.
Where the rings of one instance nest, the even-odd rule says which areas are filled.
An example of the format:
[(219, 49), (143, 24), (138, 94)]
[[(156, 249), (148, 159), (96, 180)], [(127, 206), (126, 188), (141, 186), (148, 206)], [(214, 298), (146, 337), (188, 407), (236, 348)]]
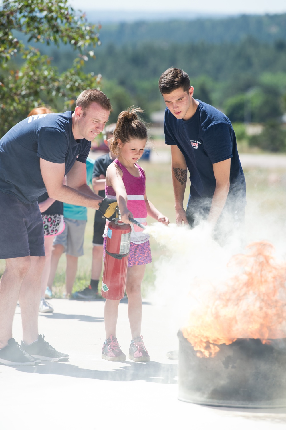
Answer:
[(22, 350), (14, 338), (9, 339), (8, 345), (0, 349), (0, 363), (6, 366), (37, 366), (40, 362), (41, 360)]

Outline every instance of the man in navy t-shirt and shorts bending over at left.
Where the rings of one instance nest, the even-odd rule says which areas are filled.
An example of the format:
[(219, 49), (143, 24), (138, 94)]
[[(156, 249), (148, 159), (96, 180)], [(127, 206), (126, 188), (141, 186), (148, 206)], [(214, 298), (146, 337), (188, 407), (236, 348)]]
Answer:
[[(77, 98), (74, 112), (33, 115), (0, 140), (0, 258), (6, 259), (0, 287), (1, 364), (36, 365), (41, 359), (69, 358), (38, 333), (45, 252), (37, 197), (47, 191), (55, 200), (94, 209), (101, 205), (102, 211), (106, 202), (102, 204), (103, 198), (86, 184), (85, 162), (110, 109), (103, 92), (86, 90)], [(23, 325), (21, 348), (12, 338), (17, 300)]]

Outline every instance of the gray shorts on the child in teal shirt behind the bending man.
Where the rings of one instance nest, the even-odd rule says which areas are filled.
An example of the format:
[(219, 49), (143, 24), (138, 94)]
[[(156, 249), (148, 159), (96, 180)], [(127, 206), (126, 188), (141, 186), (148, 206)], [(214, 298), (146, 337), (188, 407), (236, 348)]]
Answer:
[(64, 218), (66, 228), (55, 237), (54, 245), (64, 246), (67, 254), (73, 257), (83, 255), (83, 240), (85, 235), (85, 220)]

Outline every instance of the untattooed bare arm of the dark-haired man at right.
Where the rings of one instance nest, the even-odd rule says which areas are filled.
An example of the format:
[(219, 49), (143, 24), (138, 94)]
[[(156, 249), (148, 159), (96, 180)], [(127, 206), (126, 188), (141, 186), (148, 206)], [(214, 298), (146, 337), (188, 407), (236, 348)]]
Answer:
[(207, 221), (214, 227), (219, 215), (225, 206), (225, 200), (228, 197), (229, 191), (229, 175), (230, 175), (231, 159), (220, 161), (213, 164), (213, 173), (216, 178), (216, 189), (213, 194), (212, 205)]

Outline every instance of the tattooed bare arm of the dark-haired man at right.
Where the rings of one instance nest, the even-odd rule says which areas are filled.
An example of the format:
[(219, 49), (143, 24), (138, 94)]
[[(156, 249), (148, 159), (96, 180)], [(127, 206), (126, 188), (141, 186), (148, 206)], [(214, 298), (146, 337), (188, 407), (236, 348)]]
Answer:
[(172, 179), (175, 196), (176, 223), (178, 225), (188, 224), (186, 212), (184, 210), (184, 195), (187, 182), (187, 165), (185, 157), (176, 145), (171, 146), (172, 155)]

